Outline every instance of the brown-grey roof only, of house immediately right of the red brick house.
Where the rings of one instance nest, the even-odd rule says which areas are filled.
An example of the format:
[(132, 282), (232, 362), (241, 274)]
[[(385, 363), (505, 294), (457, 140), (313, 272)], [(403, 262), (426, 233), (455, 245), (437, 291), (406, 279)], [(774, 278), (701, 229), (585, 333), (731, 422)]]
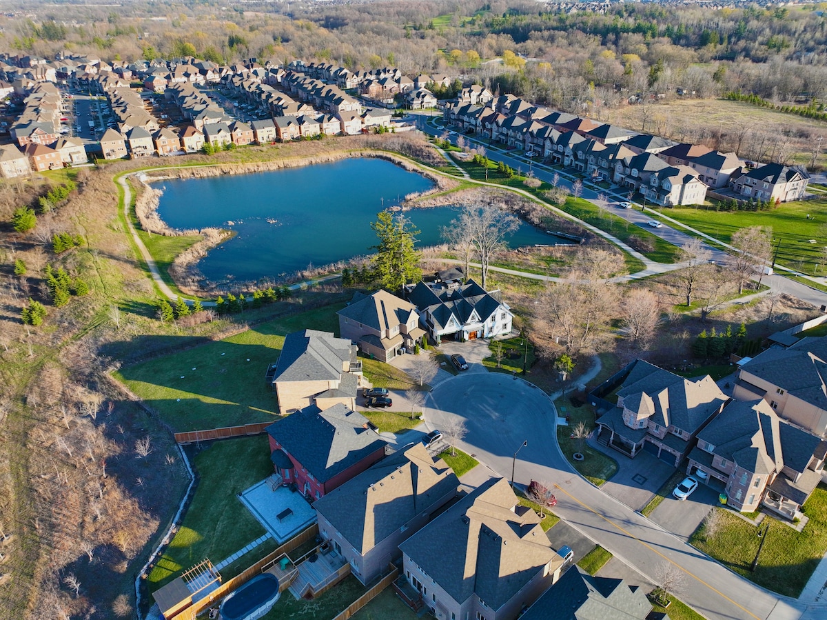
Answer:
[(432, 459), (417, 442), (327, 493), (313, 507), (365, 554), (414, 517), (433, 512), (459, 484), (445, 461)]

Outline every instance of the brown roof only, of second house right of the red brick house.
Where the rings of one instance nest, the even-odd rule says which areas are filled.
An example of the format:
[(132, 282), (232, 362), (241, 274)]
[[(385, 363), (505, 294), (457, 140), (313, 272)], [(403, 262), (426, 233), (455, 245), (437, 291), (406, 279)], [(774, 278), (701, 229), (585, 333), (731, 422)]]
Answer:
[(543, 566), (562, 565), (531, 508), (491, 478), (399, 546), (458, 603), (475, 594), (499, 609)]

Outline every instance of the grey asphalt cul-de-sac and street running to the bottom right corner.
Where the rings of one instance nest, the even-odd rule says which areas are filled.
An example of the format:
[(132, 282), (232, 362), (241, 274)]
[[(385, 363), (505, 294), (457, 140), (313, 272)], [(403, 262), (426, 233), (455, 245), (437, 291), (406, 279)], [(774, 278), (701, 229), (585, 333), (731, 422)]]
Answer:
[[(504, 478), (511, 478), (514, 467), (515, 483), (551, 482), (559, 517), (653, 583), (659, 583), (662, 567), (678, 567), (685, 575), (679, 598), (705, 618), (803, 618), (803, 605), (742, 579), (574, 472), (557, 445), (552, 402), (528, 382), (499, 373), (463, 373), (434, 387), (424, 412), (430, 428), (465, 421), (461, 449)], [(812, 613), (810, 618), (825, 618), (827, 607)]]

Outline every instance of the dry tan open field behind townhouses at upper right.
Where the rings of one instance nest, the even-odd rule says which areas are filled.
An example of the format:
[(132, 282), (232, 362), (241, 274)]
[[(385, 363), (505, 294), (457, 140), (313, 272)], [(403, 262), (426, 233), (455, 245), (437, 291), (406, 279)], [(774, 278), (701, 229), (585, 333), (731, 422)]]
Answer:
[[(621, 127), (640, 131), (642, 128), (642, 109), (640, 106), (623, 106), (610, 110), (608, 123), (618, 124)], [(645, 127), (647, 132), (662, 134), (681, 142), (700, 142), (701, 129), (709, 134), (703, 142), (710, 148), (721, 151), (732, 151), (737, 146), (738, 135), (745, 132), (743, 144), (753, 139), (756, 132), (780, 131), (789, 128), (802, 136), (820, 135), (827, 130), (827, 123), (810, 118), (785, 114), (769, 108), (727, 99), (671, 99), (663, 103), (650, 106), (649, 122)], [(718, 134), (728, 134), (729, 139), (719, 140)], [(748, 149), (742, 147), (742, 157), (750, 157)], [(793, 151), (797, 151), (796, 163), (806, 164), (810, 158), (810, 143), (805, 137), (796, 139)], [(809, 152), (808, 152), (809, 151)], [(827, 166), (827, 156), (819, 158), (818, 165)]]

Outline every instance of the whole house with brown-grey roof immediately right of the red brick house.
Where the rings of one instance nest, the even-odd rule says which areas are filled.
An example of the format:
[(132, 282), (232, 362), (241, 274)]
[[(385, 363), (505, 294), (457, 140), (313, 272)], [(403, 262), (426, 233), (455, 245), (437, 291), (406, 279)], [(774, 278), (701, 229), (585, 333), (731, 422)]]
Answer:
[(369, 584), (399, 557), (399, 544), (456, 497), (459, 484), (445, 461), (417, 442), (315, 502), (319, 534)]

